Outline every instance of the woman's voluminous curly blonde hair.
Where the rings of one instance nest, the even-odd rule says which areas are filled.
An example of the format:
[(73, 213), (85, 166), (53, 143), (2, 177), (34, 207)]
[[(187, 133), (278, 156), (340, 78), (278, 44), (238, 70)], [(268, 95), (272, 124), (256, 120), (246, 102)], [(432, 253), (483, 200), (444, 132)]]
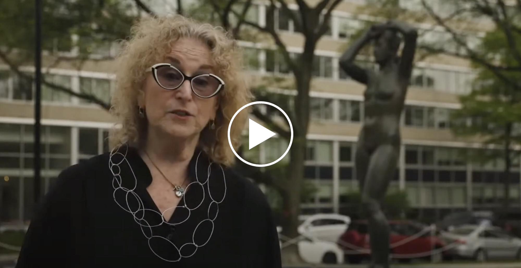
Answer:
[[(224, 90), (217, 96), (215, 128), (203, 129), (199, 146), (213, 162), (232, 165), (235, 155), (228, 143), (230, 119), (253, 98), (242, 74), (242, 49), (222, 28), (179, 15), (144, 18), (132, 27), (130, 39), (122, 42), (116, 59), (116, 88), (110, 109), (121, 127), (110, 133), (110, 145), (141, 146), (147, 122), (139, 118), (138, 95), (148, 75), (146, 70), (164, 60), (172, 42), (182, 37), (194, 37), (208, 45), (216, 66), (215, 74), (225, 81)], [(236, 150), (248, 117), (249, 109), (242, 110), (231, 126), (230, 139)]]

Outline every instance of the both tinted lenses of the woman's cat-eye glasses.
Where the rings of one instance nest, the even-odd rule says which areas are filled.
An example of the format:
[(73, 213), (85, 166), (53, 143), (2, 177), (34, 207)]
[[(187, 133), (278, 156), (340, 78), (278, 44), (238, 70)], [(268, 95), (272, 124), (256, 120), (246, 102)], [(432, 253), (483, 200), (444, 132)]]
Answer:
[[(160, 66), (156, 70), (159, 85), (168, 90), (178, 88), (184, 81), (184, 75), (176, 68)], [(212, 96), (219, 89), (219, 85), (219, 80), (208, 74), (197, 75), (191, 81), (192, 90), (201, 97)]]

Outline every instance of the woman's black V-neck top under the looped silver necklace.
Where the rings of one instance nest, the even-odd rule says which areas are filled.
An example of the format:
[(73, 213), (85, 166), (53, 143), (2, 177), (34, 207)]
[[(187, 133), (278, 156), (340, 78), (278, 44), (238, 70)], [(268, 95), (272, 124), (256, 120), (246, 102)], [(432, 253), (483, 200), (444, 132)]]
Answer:
[(31, 221), (16, 267), (281, 267), (261, 190), (210, 164), (200, 150), (190, 175), (187, 193), (164, 222), (137, 150), (122, 146), (72, 165)]

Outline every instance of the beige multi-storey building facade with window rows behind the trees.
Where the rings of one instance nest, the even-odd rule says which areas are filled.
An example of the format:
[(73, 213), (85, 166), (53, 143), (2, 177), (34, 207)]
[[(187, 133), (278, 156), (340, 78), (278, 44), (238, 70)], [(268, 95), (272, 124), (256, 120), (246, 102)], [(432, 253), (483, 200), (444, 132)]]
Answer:
[[(346, 40), (363, 23), (360, 16), (352, 15), (358, 7), (356, 2), (361, 1), (344, 1), (333, 12), (331, 31), (316, 50), (304, 173), (318, 191), (302, 203), (305, 214), (342, 211), (345, 195), (357, 190), (353, 165), (355, 142), (364, 118), (364, 86), (350, 80), (338, 66)], [(300, 53), (301, 35), (282, 12), (276, 11), (275, 15), (271, 23), (288, 50)], [(250, 16), (263, 25), (270, 23), (263, 5), (255, 5)], [(445, 38), (446, 34), (434, 30), (421, 36), (429, 41)], [(476, 40), (479, 36), (478, 32), (469, 35)], [(252, 78), (288, 74), (275, 50), (258, 43), (240, 43), (245, 47)], [(111, 50), (100, 53), (110, 55)], [(113, 61), (86, 61), (79, 70), (67, 61), (48, 67), (51, 62), (52, 55), (44, 56), (47, 81), (109, 101), (116, 68)], [(30, 74), (34, 68), (24, 66), (21, 70)], [(402, 117), (399, 167), (390, 186), (390, 191), (406, 191), (413, 207), (411, 216), (436, 220), (452, 211), (493, 209), (501, 203), (504, 163), (467, 161), (461, 157), (462, 151), (483, 154), (484, 149), (454, 137), (449, 129), (450, 112), (460, 107), (458, 95), (470, 91), (473, 78), (469, 62), (444, 55), (418, 62), (414, 69)], [(27, 221), (32, 213), (33, 94), (30, 81), (0, 62), (0, 222)], [(94, 104), (45, 86), (42, 99), (41, 188), (45, 191), (64, 168), (109, 150), (106, 137), (114, 120)], [(284, 142), (270, 139), (250, 151), (250, 156), (274, 160), (286, 148)], [(520, 208), (519, 167), (519, 162), (514, 163), (509, 188), (516, 211)]]

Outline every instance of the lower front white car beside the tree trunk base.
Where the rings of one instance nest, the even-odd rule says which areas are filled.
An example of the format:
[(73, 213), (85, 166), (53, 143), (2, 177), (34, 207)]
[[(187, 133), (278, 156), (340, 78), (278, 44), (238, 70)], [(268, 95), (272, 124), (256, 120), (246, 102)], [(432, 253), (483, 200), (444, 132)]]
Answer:
[[(307, 263), (321, 264), (342, 264), (344, 263), (344, 252), (337, 244), (318, 241), (304, 236), (297, 242), (300, 257)], [(286, 247), (287, 243), (279, 240), (280, 248)]]

